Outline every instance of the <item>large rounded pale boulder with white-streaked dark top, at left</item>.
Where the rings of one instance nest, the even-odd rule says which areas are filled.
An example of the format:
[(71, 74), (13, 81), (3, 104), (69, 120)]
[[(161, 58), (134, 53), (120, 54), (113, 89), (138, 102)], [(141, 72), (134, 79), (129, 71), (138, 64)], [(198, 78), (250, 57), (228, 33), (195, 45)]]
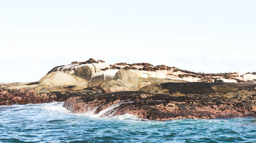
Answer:
[(95, 73), (109, 67), (108, 64), (96, 62), (94, 59), (90, 59), (87, 63), (72, 62), (71, 65), (54, 67), (40, 79), (36, 88), (37, 93), (56, 91), (63, 85), (73, 86), (73, 90), (87, 88)]

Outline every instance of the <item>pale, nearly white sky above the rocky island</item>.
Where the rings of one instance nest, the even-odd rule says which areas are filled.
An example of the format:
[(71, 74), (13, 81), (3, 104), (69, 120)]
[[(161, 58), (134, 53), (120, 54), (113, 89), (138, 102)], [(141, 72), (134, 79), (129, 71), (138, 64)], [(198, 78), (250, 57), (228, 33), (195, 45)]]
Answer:
[(0, 82), (90, 58), (256, 72), (256, 1), (0, 0)]

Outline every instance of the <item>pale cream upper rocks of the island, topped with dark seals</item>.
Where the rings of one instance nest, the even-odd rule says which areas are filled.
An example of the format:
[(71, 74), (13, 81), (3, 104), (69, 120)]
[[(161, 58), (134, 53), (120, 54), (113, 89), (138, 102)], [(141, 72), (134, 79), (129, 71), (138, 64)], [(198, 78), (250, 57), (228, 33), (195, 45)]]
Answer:
[[(119, 72), (120, 71), (120, 72)], [(122, 77), (115, 78), (122, 73)], [(130, 78), (130, 79), (129, 79)], [(117, 79), (120, 79), (117, 81)], [(126, 81), (129, 79), (130, 81)], [(254, 73), (204, 74), (181, 70), (166, 65), (153, 66), (149, 63), (116, 63), (109, 65), (91, 58), (86, 62), (72, 62), (57, 66), (41, 78), (37, 93), (61, 91), (65, 86), (73, 90), (103, 87), (103, 91), (138, 90), (152, 83), (164, 82), (255, 82)], [(132, 82), (133, 83), (132, 83)], [(109, 82), (109, 83), (108, 83)], [(130, 85), (134, 84), (135, 87)], [(124, 86), (123, 88), (121, 86)], [(111, 87), (107, 87), (111, 86)], [(117, 89), (114, 89), (117, 88)], [(109, 90), (106, 90), (109, 89)]]

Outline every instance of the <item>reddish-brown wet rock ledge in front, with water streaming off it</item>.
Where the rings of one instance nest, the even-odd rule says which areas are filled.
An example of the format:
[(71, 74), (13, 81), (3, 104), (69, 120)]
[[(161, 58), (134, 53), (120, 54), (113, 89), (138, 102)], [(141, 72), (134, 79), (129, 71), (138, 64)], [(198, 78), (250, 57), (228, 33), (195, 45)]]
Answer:
[(102, 116), (129, 113), (142, 119), (215, 119), (256, 115), (255, 95), (240, 98), (225, 94), (182, 95), (117, 92), (71, 97), (63, 105), (74, 113), (94, 110), (97, 114), (110, 106), (116, 107)]

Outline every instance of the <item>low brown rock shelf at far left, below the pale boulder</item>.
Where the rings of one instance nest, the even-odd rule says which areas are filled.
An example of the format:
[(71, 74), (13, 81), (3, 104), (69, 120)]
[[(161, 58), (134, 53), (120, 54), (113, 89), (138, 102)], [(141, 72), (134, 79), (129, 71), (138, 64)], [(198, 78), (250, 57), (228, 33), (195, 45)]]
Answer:
[(37, 93), (38, 82), (0, 84), (0, 105), (63, 102), (69, 97), (101, 93), (101, 89), (73, 90), (72, 86), (63, 86), (59, 91)]

